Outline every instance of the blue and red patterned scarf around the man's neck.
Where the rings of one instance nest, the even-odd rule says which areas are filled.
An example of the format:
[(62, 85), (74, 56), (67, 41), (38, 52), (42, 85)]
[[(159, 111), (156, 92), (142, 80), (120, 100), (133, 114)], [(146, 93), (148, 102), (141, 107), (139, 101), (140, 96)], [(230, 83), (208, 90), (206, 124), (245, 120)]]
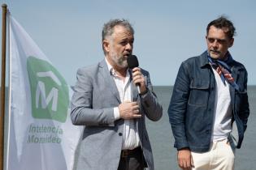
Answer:
[(227, 55), (228, 55), (227, 60), (220, 61), (220, 60), (215, 60), (215, 59), (211, 58), (208, 53), (208, 60), (210, 62), (210, 65), (217, 71), (217, 73), (219, 74), (219, 76), (224, 84), (226, 84), (225, 80), (227, 80), (227, 82), (232, 87), (234, 87), (236, 90), (239, 90), (238, 85), (236, 84), (234, 78), (232, 77), (232, 71), (230, 70), (230, 68), (228, 66), (228, 64), (233, 61), (233, 58), (229, 52), (227, 53)]

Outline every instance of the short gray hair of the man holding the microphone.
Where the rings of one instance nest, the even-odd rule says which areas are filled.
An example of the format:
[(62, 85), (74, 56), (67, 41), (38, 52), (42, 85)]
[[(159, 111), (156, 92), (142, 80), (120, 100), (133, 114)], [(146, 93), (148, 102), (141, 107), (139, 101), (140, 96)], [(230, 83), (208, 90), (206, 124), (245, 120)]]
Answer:
[[(128, 22), (127, 19), (111, 19), (110, 21), (105, 23), (102, 28), (102, 41), (106, 40), (106, 37), (111, 36), (113, 34), (114, 28), (116, 25), (123, 26), (124, 28), (126, 28), (128, 30), (128, 32), (131, 32), (132, 35), (134, 34), (132, 25), (131, 25), (131, 23)], [(104, 51), (104, 54), (106, 54), (103, 45), (102, 45), (102, 49)]]

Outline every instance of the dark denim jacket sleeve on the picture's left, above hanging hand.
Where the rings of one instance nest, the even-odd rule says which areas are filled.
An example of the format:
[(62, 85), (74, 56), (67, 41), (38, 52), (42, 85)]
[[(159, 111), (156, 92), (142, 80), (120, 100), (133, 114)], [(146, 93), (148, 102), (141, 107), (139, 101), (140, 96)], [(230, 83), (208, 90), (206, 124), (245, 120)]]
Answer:
[(172, 134), (175, 138), (174, 147), (180, 150), (189, 147), (185, 134), (184, 119), (189, 100), (189, 66), (184, 62), (180, 65), (173, 87), (171, 102), (168, 108), (169, 121), (171, 123)]

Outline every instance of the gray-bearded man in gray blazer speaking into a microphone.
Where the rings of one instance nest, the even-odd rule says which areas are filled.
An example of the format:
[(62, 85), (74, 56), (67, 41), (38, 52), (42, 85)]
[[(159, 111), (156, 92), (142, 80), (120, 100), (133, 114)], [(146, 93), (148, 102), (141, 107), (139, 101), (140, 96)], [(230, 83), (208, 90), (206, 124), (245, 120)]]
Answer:
[(85, 125), (78, 170), (154, 169), (145, 116), (158, 121), (163, 108), (152, 91), (150, 74), (139, 67), (128, 69), (133, 34), (127, 20), (105, 23), (105, 58), (77, 71), (71, 117), (74, 125)]

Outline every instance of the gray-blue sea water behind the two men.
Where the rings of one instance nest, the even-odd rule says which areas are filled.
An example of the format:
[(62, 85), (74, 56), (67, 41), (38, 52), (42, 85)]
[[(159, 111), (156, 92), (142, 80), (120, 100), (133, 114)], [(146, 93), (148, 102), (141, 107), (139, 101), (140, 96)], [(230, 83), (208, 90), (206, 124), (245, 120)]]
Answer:
[[(256, 170), (256, 86), (249, 86), (247, 90), (250, 115), (241, 149), (236, 149), (236, 170)], [(167, 115), (172, 87), (157, 86), (154, 87), (154, 92), (163, 106), (163, 117), (159, 121), (146, 120), (154, 155), (154, 167), (155, 170), (180, 170), (176, 159), (177, 151), (173, 147), (174, 138), (171, 132), (171, 125)]]

